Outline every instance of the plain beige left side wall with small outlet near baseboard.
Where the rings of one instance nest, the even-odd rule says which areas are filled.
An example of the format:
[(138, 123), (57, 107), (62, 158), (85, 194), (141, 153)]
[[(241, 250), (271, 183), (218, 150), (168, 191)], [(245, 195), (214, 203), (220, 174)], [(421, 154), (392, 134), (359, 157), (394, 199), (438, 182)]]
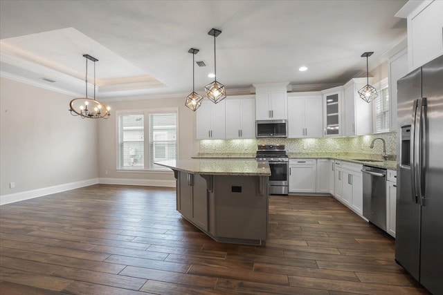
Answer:
[(1, 196), (97, 178), (98, 124), (71, 116), (71, 99), (1, 78)]

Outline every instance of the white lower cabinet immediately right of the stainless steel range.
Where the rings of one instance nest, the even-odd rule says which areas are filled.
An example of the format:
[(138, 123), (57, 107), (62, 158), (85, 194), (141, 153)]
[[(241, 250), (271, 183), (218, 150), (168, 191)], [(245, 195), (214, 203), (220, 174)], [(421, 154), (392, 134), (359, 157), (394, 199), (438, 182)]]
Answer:
[(289, 193), (315, 193), (317, 184), (316, 159), (289, 160)]

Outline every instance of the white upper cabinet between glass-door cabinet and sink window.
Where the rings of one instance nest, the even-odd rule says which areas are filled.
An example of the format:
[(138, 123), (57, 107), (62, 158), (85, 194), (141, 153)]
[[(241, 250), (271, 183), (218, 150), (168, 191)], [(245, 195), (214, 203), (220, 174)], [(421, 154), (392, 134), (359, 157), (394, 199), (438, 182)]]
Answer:
[[(372, 133), (372, 102), (361, 99), (359, 90), (367, 83), (366, 78), (355, 78), (347, 82), (344, 97), (345, 136), (367, 135)], [(372, 79), (369, 79), (372, 84)]]

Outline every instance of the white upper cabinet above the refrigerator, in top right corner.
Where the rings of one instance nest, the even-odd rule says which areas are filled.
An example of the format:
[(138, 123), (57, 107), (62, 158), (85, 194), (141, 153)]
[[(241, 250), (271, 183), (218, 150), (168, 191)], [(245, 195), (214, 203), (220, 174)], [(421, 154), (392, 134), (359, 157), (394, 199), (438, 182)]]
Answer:
[(443, 55), (443, 1), (408, 1), (395, 16), (408, 19), (408, 72)]

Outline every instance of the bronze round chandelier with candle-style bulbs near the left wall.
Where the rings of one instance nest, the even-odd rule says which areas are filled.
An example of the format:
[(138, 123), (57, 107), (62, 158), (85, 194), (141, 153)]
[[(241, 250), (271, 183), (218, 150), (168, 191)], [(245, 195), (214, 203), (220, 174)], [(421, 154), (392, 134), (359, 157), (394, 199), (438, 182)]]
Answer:
[[(111, 108), (109, 106), (105, 106), (98, 100), (96, 100), (96, 59), (95, 57), (91, 57), (91, 55), (83, 55), (86, 58), (86, 78), (84, 82), (86, 84), (86, 97), (78, 97), (71, 100), (69, 104), (71, 111), (71, 115), (80, 116), (82, 119), (91, 118), (91, 119), (107, 119), (111, 113), (109, 112)], [(88, 98), (88, 60), (93, 61), (94, 63), (94, 98)]]

